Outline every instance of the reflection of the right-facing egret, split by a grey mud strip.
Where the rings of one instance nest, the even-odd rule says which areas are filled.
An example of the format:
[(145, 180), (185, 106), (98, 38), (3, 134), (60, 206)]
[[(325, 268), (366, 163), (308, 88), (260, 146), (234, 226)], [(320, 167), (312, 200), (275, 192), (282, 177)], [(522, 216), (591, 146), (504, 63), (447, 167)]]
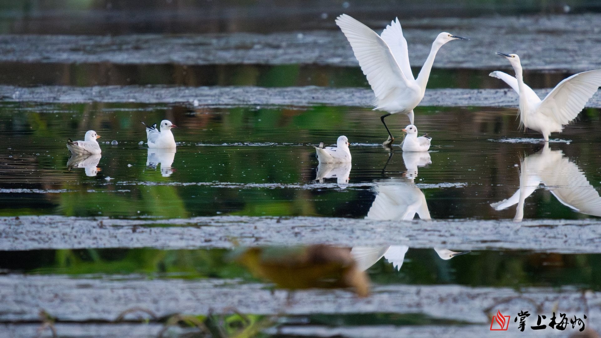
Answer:
[[(411, 221), (416, 214), (421, 220), (431, 220), (426, 196), (411, 180), (381, 180), (376, 184), (374, 188), (376, 199), (367, 212), (366, 220)], [(407, 245), (389, 245), (353, 247), (351, 253), (361, 270), (368, 269), (382, 257), (392, 263), (395, 269), (400, 270), (407, 250), (409, 250)], [(469, 253), (469, 251), (456, 252), (444, 248), (434, 248), (434, 250), (445, 260)]]

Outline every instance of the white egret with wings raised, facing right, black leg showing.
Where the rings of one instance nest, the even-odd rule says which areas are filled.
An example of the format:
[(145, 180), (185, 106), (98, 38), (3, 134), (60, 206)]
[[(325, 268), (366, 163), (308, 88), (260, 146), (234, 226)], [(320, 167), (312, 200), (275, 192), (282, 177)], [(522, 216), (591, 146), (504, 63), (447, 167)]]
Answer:
[(403, 37), (398, 17), (386, 26), (382, 35), (377, 35), (368, 26), (347, 14), (337, 17), (336, 24), (349, 40), (359, 66), (376, 95), (374, 110), (387, 112), (380, 117), (388, 132), (388, 140), (383, 143), (385, 146), (392, 144), (394, 137), (390, 134), (384, 118), (400, 112), (409, 115), (409, 123), (413, 124), (413, 108), (424, 98), (436, 53), (448, 41), (469, 40), (447, 32), (438, 34), (432, 43), (426, 63), (417, 79), (414, 79), (409, 64), (407, 40)]

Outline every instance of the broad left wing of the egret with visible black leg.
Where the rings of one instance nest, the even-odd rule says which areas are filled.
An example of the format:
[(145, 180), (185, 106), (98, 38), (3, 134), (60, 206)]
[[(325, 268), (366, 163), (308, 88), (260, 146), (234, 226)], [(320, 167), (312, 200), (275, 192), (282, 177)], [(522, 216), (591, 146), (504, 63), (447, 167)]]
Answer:
[(359, 66), (378, 99), (385, 99), (399, 87), (407, 87), (407, 78), (380, 35), (346, 14), (337, 17), (336, 24), (349, 40)]

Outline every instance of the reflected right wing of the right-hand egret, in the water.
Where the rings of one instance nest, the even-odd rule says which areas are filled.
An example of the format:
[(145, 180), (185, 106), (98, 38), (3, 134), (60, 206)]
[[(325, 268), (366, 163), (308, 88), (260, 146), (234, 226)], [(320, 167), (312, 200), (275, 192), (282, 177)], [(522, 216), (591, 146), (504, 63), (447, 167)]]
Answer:
[(563, 157), (543, 171), (541, 176), (561, 203), (583, 214), (601, 216), (599, 192), (574, 162)]

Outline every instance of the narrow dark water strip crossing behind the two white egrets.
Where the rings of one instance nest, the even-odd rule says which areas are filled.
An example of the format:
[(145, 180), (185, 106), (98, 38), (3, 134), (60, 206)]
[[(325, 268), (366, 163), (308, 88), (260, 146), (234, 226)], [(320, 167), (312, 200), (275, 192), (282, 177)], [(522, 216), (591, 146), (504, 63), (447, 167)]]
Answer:
[[(413, 74), (419, 73), (413, 67)], [(433, 69), (428, 88), (508, 88), (489, 73), (495, 69)], [(552, 88), (572, 75), (550, 70), (523, 76), (532, 88)], [(181, 64), (114, 64), (114, 63), (0, 63), (0, 84), (31, 87), (35, 85), (256, 85), (290, 87), (365, 87), (369, 85), (359, 67), (331, 67), (313, 64), (260, 64), (186, 66)]]

